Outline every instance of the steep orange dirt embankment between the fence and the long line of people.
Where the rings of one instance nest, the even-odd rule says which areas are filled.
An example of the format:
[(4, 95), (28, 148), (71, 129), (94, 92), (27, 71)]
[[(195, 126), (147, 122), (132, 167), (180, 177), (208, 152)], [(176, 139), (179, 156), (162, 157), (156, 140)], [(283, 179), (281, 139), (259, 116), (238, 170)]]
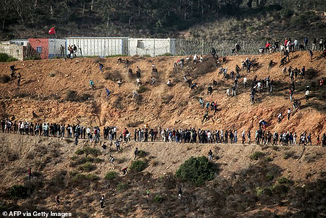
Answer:
[[(317, 51), (315, 56), (320, 55)], [(296, 112), (289, 121), (286, 118), (277, 124), (277, 115), (283, 112), (286, 116), (287, 108), (292, 108), (288, 97), (289, 77), (284, 77), (282, 68), (273, 66), (268, 68), (269, 60), (278, 62), (279, 53), (254, 56), (258, 59), (259, 68), (250, 73), (241, 71), (241, 77), (247, 76), (248, 86), (256, 75), (258, 79), (270, 76), (275, 87), (272, 93), (263, 93), (256, 96), (256, 103), (249, 104), (249, 88), (243, 88), (243, 79), (239, 81), (237, 96), (226, 97), (226, 89), (231, 88), (231, 80), (222, 80), (218, 75), (218, 68), (212, 67), (209, 57), (204, 63), (185, 65), (183, 70), (173, 71), (173, 63), (179, 57), (129, 57), (130, 68), (136, 71), (141, 69), (141, 80), (146, 91), (140, 94), (140, 100), (132, 100), (133, 90), (137, 90), (136, 76), (128, 75), (128, 68), (124, 64), (117, 65), (116, 58), (105, 58), (104, 75), (100, 72), (94, 58), (75, 58), (73, 60), (41, 60), (15, 62), (17, 72), (22, 73), (21, 87), (17, 88), (16, 81), (0, 86), (2, 95), (0, 112), (4, 117), (12, 120), (26, 120), (29, 122), (56, 122), (65, 124), (81, 123), (82, 125), (117, 125), (139, 127), (148, 123), (150, 127), (172, 128), (210, 128), (210, 129), (238, 129), (255, 131), (258, 121), (263, 118), (267, 121), (267, 129), (271, 131), (311, 132), (314, 137), (326, 131), (324, 101), (318, 98), (318, 79), (326, 75), (325, 59), (315, 57), (309, 61), (307, 52), (295, 52), (290, 56), (286, 67), (311, 68), (316, 71), (311, 80), (302, 80), (297, 77), (294, 99), (301, 100), (303, 107)], [(230, 56), (226, 64), (228, 72), (241, 67), (241, 61), (246, 56)], [(154, 75), (156, 86), (149, 85), (151, 64), (158, 69)], [(9, 74), (12, 63), (0, 63), (0, 73)], [(198, 90), (190, 93), (187, 84), (183, 82), (183, 75), (189, 72), (192, 82), (196, 82)], [(307, 75), (309, 76), (309, 75)], [(105, 80), (105, 78), (107, 80)], [(111, 78), (111, 79), (109, 79)], [(122, 86), (118, 87), (116, 81), (122, 78)], [(171, 78), (175, 84), (168, 90), (166, 83)], [(89, 88), (89, 79), (93, 80), (96, 90)], [(207, 95), (207, 87), (212, 81), (218, 81), (212, 95)], [(313, 84), (310, 102), (304, 100), (304, 87)], [(104, 88), (113, 90), (106, 100)], [(78, 93), (77, 102), (65, 101), (67, 89)], [(86, 94), (82, 96), (83, 94)], [(202, 124), (205, 112), (198, 104), (198, 99), (205, 102), (217, 102), (218, 113), (212, 114)]]

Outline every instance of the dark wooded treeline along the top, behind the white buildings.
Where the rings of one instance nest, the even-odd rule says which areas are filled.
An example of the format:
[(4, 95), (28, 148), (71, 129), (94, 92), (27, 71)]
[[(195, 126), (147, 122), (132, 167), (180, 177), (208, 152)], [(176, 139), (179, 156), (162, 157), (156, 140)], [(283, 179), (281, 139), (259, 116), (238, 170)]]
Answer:
[(291, 0), (4, 0), (0, 38), (46, 36), (53, 26), (58, 37), (165, 37), (223, 17), (264, 16), (274, 11), (273, 15), (286, 18), (325, 8), (325, 0), (295, 4)]

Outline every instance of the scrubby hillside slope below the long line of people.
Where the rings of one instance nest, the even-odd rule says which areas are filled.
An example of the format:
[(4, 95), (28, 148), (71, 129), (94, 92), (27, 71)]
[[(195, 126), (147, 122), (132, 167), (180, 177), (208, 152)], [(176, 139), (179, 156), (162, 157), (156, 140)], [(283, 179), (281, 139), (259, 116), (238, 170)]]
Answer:
[[(97, 157), (99, 161), (92, 163), (94, 168), (87, 173), (80, 168), (83, 165), (78, 164), (78, 160), (87, 156), (76, 152), (87, 146), (86, 141), (74, 146), (72, 141), (58, 138), (4, 133), (0, 137), (0, 164), (6, 172), (0, 177), (0, 205), (7, 211), (28, 208), (71, 212), (73, 217), (261, 217), (262, 214), (265, 217), (308, 217), (305, 215), (320, 211), (316, 208), (324, 202), (318, 195), (324, 193), (326, 182), (323, 148), (129, 143), (120, 152), (110, 148), (105, 156), (90, 154), (88, 158)], [(130, 166), (134, 159), (135, 147), (147, 152), (137, 160), (146, 162), (148, 167), (140, 173), (130, 171), (121, 176), (120, 169)], [(94, 148), (100, 149), (100, 144)], [(172, 176), (190, 156), (207, 155), (209, 149), (219, 170), (205, 187), (194, 187)], [(262, 152), (264, 156), (258, 161), (251, 160), (249, 156), (255, 152)], [(114, 155), (115, 166), (110, 167), (108, 154)], [(28, 167), (32, 167), (34, 174), (31, 181), (27, 181)], [(114, 180), (104, 179), (108, 171), (118, 173)], [(83, 174), (96, 175), (98, 179), (77, 176)], [(292, 181), (291, 185), (281, 187), (280, 178)], [(13, 185), (24, 185), (32, 195), (27, 199), (10, 200), (8, 190)], [(256, 196), (257, 187), (273, 185), (280, 189), (274, 188), (271, 195), (264, 189), (263, 195)], [(183, 188), (181, 202), (176, 200), (178, 187)], [(148, 188), (151, 190), (149, 198), (144, 194)], [(292, 192), (295, 196), (291, 197)], [(305, 192), (305, 199), (310, 201), (309, 213), (303, 206), (305, 201), (300, 200)], [(106, 197), (103, 210), (98, 203), (101, 194)], [(162, 196), (162, 204), (155, 201), (155, 194)], [(56, 195), (62, 200), (59, 209), (53, 201)]]

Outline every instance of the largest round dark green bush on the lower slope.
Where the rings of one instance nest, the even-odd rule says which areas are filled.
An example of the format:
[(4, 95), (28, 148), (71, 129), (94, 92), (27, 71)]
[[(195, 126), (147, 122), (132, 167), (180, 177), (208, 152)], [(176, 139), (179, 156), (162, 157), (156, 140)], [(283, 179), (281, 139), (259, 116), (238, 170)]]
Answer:
[(190, 157), (180, 165), (175, 175), (181, 180), (189, 181), (194, 185), (202, 185), (205, 181), (214, 179), (216, 168), (208, 161), (207, 157)]

